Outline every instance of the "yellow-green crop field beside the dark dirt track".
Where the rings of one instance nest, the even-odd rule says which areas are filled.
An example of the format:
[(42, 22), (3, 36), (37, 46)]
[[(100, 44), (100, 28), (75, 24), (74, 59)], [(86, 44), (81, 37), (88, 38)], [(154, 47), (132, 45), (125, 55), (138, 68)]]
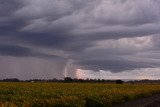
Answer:
[(0, 83), (0, 106), (108, 107), (160, 92), (158, 84)]

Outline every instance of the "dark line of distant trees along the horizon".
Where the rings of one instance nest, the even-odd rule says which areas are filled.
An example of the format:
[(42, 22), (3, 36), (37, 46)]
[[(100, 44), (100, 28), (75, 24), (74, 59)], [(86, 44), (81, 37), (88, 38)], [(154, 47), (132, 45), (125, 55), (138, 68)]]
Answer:
[(123, 84), (123, 83), (160, 83), (160, 80), (131, 80), (131, 81), (123, 81), (123, 80), (107, 80), (107, 79), (77, 79), (77, 78), (71, 78), (71, 77), (65, 77), (64, 79), (29, 79), (29, 80), (19, 80), (18, 78), (6, 78), (0, 80), (0, 82), (90, 82), (90, 83), (117, 83), (117, 84)]

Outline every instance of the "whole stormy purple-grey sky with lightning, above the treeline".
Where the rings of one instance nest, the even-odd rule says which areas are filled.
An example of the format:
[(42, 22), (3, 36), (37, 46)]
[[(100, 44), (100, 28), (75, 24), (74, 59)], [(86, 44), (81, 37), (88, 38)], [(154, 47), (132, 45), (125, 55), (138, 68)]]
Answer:
[(160, 0), (0, 0), (0, 79), (160, 79)]

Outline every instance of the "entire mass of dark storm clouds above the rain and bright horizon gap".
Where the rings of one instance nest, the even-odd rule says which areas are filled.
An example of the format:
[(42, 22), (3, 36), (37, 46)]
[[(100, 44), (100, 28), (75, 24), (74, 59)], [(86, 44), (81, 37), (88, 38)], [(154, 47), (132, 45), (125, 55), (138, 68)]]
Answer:
[(128, 56), (147, 52), (154, 59), (152, 51), (160, 51), (159, 19), (158, 0), (1, 0), (0, 54), (67, 56), (76, 66), (112, 72), (154, 67), (159, 61)]

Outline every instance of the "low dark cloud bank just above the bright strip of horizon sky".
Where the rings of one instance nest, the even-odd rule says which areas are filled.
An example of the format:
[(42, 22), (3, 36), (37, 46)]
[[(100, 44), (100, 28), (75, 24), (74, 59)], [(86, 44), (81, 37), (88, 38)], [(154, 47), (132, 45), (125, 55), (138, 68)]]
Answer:
[(81, 69), (87, 70), (109, 70), (112, 72), (121, 72), (125, 70), (134, 70), (140, 68), (154, 68), (160, 66), (156, 63), (136, 62), (129, 60), (85, 60), (77, 62)]

